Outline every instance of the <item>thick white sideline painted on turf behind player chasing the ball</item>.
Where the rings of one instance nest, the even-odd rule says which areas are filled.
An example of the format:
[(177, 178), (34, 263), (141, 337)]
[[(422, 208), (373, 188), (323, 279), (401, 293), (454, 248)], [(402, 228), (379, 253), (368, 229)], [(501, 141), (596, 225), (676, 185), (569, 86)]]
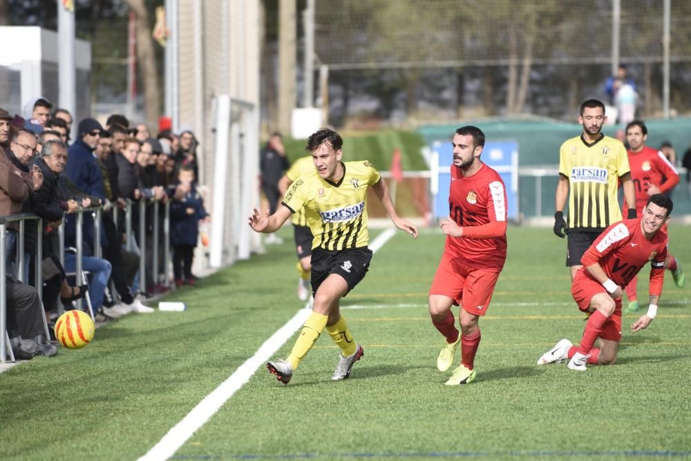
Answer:
[[(395, 229), (386, 229), (381, 232), (372, 241), (370, 250), (372, 253), (377, 252), (384, 246), (394, 234)], [(309, 303), (309, 301), (307, 301)], [(307, 307), (305, 305), (305, 307)], [(232, 397), (243, 384), (249, 381), (249, 378), (254, 375), (254, 372), (261, 367), (265, 362), (276, 353), (276, 350), (281, 348), (285, 341), (290, 339), (292, 335), (305, 323), (307, 317), (310, 317), (311, 309), (299, 310), (292, 319), (287, 321), (284, 326), (278, 329), (269, 339), (264, 341), (264, 344), (255, 352), (255, 354), (247, 359), (244, 364), (235, 370), (235, 373), (230, 375), (223, 383), (220, 384), (213, 392), (204, 397), (204, 399), (197, 404), (192, 411), (187, 413), (182, 421), (178, 422), (173, 429), (168, 431), (163, 438), (155, 444), (146, 455), (139, 458), (139, 461), (158, 461), (167, 460), (180, 449), (180, 446), (187, 442), (189, 438), (203, 426), (210, 418), (218, 411), (218, 409), (225, 404), (225, 402)]]

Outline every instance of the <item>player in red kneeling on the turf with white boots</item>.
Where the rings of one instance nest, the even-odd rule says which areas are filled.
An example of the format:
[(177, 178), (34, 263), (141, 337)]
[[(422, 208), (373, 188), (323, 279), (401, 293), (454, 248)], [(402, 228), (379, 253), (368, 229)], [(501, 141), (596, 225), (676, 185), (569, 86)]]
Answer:
[[(600, 234), (583, 255), (583, 267), (571, 285), (578, 308), (590, 314), (580, 346), (562, 339), (538, 359), (538, 365), (569, 360), (571, 370), (584, 371), (586, 364), (614, 364), (621, 339), (623, 287), (650, 261), (650, 305), (635, 321), (632, 332), (650, 325), (665, 280), (667, 234), (662, 227), (670, 220), (672, 200), (663, 194), (650, 196), (643, 216), (615, 223)], [(600, 339), (601, 347), (594, 348)]]

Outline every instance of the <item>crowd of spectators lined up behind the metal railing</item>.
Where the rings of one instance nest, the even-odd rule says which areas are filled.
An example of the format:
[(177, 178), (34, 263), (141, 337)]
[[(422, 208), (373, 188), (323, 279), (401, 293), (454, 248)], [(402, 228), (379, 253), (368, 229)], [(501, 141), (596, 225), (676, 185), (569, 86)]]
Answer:
[[(198, 223), (208, 219), (196, 190), (198, 142), (191, 130), (180, 135), (164, 130), (153, 138), (146, 124), (132, 126), (124, 115), (108, 117), (105, 127), (92, 117), (79, 120), (75, 139), (70, 139), (73, 117), (53, 108), (45, 97), (28, 101), (21, 115), (0, 108), (0, 216), (20, 213), (41, 218), (41, 252), (37, 225), (26, 221), (23, 239), (19, 225), (6, 225), (7, 332), (19, 359), (57, 354), (46, 338), (41, 310), (52, 322), (61, 310), (91, 304), (95, 320), (108, 322), (131, 312), (151, 313), (145, 305), (151, 294), (167, 289), (168, 267), (164, 251), (173, 250), (175, 285), (193, 285), (191, 254), (198, 238)], [(140, 206), (146, 207), (145, 242), (139, 232), (127, 242), (125, 220), (131, 200), (132, 229), (139, 229)], [(154, 233), (162, 237), (162, 225), (154, 229), (153, 203), (169, 203), (171, 245), (153, 254)], [(100, 239), (95, 241), (92, 213), (99, 208)], [(86, 211), (84, 211), (86, 209)], [(113, 209), (122, 212), (113, 213)], [(160, 220), (165, 208), (158, 207)], [(77, 269), (77, 214), (82, 214), (82, 269)], [(59, 228), (64, 226), (64, 254), (60, 254)], [(19, 244), (23, 240), (23, 247)], [(162, 238), (159, 239), (162, 242)], [(145, 248), (142, 254), (140, 248)], [(37, 287), (36, 255), (42, 274)], [(19, 261), (23, 255), (23, 274)], [(158, 258), (158, 274), (146, 273), (140, 286), (141, 258)], [(39, 296), (41, 290), (42, 296)], [(77, 303), (78, 300), (81, 302)], [(41, 301), (42, 300), (42, 301)]]

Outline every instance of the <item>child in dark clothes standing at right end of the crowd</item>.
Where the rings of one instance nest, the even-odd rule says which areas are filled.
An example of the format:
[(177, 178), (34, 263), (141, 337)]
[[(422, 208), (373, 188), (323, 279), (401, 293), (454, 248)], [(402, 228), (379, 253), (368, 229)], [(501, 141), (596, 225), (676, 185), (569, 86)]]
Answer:
[(171, 203), (173, 274), (178, 287), (183, 283), (194, 285), (197, 279), (192, 275), (192, 258), (199, 238), (199, 221), (209, 218), (204, 209), (204, 199), (194, 187), (194, 180), (192, 167), (180, 167), (178, 187)]

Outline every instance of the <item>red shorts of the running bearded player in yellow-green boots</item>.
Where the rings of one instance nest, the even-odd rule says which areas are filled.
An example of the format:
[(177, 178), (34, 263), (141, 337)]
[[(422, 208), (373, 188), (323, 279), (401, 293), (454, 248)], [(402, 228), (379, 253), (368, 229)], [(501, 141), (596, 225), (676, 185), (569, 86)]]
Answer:
[(453, 303), (466, 312), (484, 315), (492, 300), (497, 279), (497, 271), (466, 267), (444, 253), (429, 294), (442, 294), (453, 299)]

